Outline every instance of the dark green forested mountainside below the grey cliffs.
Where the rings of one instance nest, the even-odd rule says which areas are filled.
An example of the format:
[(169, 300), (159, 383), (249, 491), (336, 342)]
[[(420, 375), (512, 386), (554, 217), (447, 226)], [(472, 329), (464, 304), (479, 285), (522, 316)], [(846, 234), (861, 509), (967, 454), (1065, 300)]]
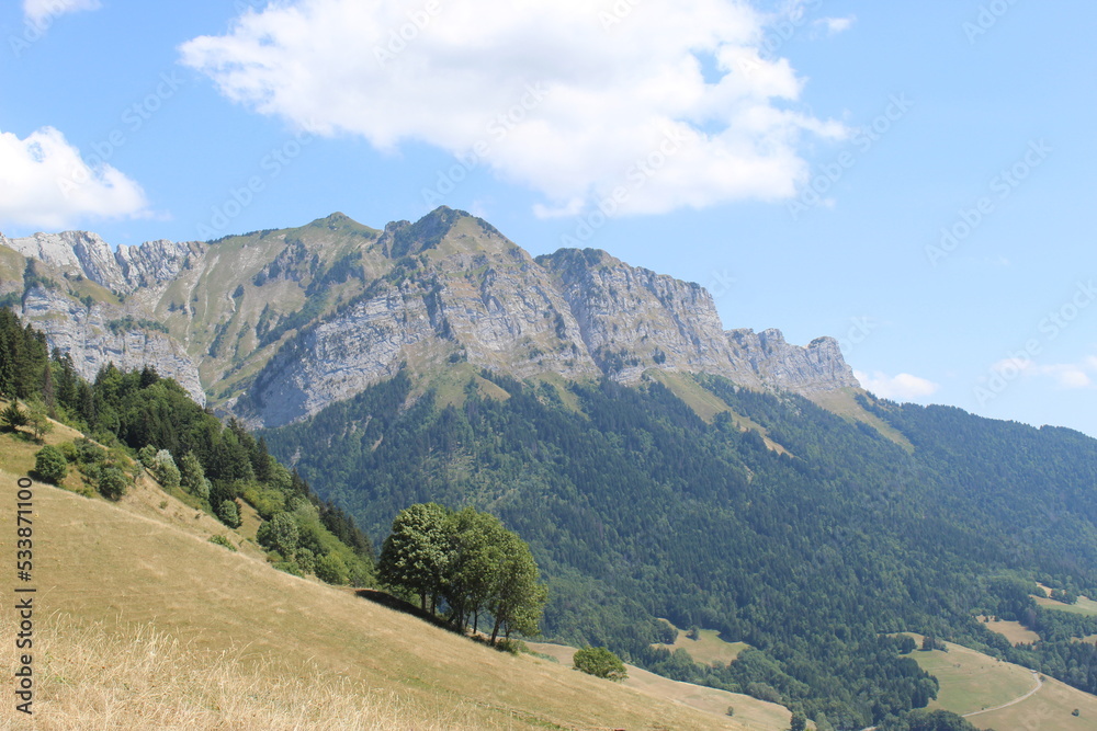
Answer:
[[(728, 407), (712, 423), (656, 382), (480, 377), (505, 395), (473, 379), (443, 407), (409, 399), (398, 376), (265, 438), (374, 534), (427, 500), (501, 516), (548, 580), (550, 637), (850, 729), (936, 694), (887, 632), (1004, 651), (975, 615), (1013, 582), (1097, 587), (1097, 443), (1076, 433), (962, 412), (935, 424), (868, 401), (911, 453), (803, 398), (717, 377), (698, 377)], [(702, 667), (651, 647), (657, 617), (753, 649)], [(1079, 648), (1074, 664), (1093, 666)], [(1027, 659), (1054, 671), (1039, 649)]]

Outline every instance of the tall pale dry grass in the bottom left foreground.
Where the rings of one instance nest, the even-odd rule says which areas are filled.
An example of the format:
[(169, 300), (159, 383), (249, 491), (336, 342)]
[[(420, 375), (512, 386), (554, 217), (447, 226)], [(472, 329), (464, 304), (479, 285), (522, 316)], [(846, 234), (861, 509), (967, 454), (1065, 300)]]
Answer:
[[(11, 637), (9, 615), (0, 631)], [(203, 652), (150, 625), (109, 632), (101, 624), (54, 615), (43, 640), (35, 715), (7, 728), (34, 729), (443, 729), (395, 693), (274, 661), (246, 664), (233, 652)], [(412, 720), (414, 719), (414, 720)]]

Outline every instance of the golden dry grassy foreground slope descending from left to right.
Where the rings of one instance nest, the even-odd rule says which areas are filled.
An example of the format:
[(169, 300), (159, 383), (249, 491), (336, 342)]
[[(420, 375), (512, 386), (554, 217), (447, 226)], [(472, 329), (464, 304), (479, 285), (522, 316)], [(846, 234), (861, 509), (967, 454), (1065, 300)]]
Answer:
[[(13, 437), (0, 435), (0, 501), (8, 505), (27, 459), (13, 446)], [(38, 616), (52, 617), (41, 637), (47, 647), (54, 642), (50, 662), (59, 669), (39, 686), (42, 728), (80, 726), (71, 713), (90, 703), (89, 694), (101, 717), (115, 713), (118, 726), (147, 728), (142, 713), (149, 704), (142, 694), (149, 693), (154, 707), (196, 708), (204, 720), (195, 728), (269, 728), (260, 716), (245, 721), (234, 715), (280, 704), (292, 708), (294, 694), (313, 692), (331, 697), (331, 715), (308, 722), (321, 728), (767, 728), (544, 660), (499, 653), (349, 591), (276, 572), (257, 556), (210, 544), (205, 528), (213, 526), (157, 488), (136, 490), (114, 505), (38, 486), (34, 503)], [(10, 544), (3, 548), (11, 550)], [(10, 613), (3, 620), (11, 620)], [(132, 677), (122, 670), (104, 678), (105, 669), (88, 660), (92, 646), (105, 653), (104, 662), (115, 655), (139, 659), (150, 632), (182, 644), (169, 653), (178, 667), (161, 667), (150, 678), (138, 663)], [(156, 677), (205, 677), (211, 656), (219, 658), (217, 672), (231, 679), (226, 687), (247, 688), (267, 700), (249, 711), (246, 703), (228, 704), (212, 687), (168, 683), (150, 689)], [(210, 677), (216, 682), (216, 675)], [(384, 703), (371, 712), (399, 726), (359, 723), (374, 698)]]

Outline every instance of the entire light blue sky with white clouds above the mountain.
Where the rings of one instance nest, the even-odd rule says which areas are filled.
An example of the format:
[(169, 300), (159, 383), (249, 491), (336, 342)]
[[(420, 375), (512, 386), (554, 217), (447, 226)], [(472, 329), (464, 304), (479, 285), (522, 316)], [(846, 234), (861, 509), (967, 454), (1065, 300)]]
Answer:
[(9, 2), (0, 231), (445, 204), (834, 335), (882, 396), (1097, 436), (1095, 32), (1082, 0)]

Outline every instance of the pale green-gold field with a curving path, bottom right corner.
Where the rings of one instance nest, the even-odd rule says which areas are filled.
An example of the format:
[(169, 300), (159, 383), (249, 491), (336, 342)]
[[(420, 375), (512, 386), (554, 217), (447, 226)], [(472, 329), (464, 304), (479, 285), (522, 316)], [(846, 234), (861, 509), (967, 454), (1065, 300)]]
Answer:
[[(915, 635), (920, 641), (920, 636)], [(981, 729), (998, 731), (1093, 731), (1097, 728), (1097, 696), (1044, 678), (1031, 696), (1000, 710), (1037, 688), (1032, 671), (1000, 662), (959, 644), (949, 651), (914, 651), (911, 656), (938, 681), (941, 689), (931, 708), (960, 713)], [(1071, 715), (1077, 708), (1081, 713)]]

